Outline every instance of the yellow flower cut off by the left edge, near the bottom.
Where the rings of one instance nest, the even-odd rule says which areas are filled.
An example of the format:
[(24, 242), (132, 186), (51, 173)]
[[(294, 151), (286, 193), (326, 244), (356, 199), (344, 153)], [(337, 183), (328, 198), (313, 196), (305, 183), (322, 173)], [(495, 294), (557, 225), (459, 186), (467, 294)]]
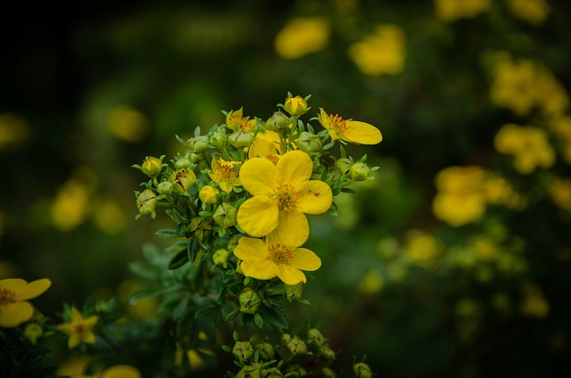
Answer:
[(47, 278), (27, 283), (21, 278), (0, 280), (0, 327), (13, 328), (34, 315), (28, 300), (46, 292), (52, 282)]

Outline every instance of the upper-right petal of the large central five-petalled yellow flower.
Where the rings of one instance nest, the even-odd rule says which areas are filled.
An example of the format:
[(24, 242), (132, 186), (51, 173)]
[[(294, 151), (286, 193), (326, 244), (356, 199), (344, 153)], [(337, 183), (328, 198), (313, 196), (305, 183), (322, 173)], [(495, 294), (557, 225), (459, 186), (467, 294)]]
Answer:
[(313, 173), (310, 155), (299, 150), (285, 152), (277, 161), (276, 168), (277, 184), (289, 184), (296, 188), (309, 181)]

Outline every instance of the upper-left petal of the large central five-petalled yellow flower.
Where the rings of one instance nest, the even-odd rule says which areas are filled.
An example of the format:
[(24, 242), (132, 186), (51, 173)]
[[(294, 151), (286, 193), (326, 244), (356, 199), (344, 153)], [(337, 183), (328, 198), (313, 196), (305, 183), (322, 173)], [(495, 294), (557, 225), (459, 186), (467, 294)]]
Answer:
[(240, 168), (240, 182), (253, 195), (270, 195), (276, 188), (276, 166), (264, 158), (246, 160)]

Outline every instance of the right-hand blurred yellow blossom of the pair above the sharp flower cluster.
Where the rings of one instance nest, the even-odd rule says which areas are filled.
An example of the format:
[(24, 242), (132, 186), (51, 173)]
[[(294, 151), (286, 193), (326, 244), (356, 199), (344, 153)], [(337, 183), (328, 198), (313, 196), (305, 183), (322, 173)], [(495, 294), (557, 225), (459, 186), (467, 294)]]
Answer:
[(349, 57), (368, 76), (396, 75), (404, 69), (405, 36), (396, 25), (379, 25), (349, 46)]

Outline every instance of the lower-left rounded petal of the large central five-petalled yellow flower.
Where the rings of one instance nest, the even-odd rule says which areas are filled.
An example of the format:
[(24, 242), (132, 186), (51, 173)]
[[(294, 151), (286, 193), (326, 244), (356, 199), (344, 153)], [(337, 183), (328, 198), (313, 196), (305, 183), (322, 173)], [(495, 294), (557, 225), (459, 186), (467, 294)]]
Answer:
[[(269, 162), (269, 160), (266, 160)], [(269, 162), (271, 164), (271, 162)], [(273, 166), (273, 164), (271, 164)], [(279, 210), (276, 203), (263, 195), (254, 196), (238, 208), (238, 226), (246, 234), (261, 237), (269, 234), (277, 226)]]

